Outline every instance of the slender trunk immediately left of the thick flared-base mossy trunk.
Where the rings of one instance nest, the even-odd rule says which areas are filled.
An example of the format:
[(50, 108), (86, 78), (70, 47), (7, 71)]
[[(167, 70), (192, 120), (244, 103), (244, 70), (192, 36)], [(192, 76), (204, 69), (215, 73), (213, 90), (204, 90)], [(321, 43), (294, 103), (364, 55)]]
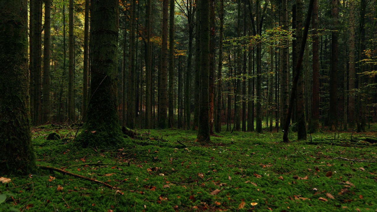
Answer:
[(83, 111), (82, 119), (88, 108), (88, 87), (89, 87), (89, 2), (85, 0), (85, 20), (84, 20), (84, 67), (83, 67)]

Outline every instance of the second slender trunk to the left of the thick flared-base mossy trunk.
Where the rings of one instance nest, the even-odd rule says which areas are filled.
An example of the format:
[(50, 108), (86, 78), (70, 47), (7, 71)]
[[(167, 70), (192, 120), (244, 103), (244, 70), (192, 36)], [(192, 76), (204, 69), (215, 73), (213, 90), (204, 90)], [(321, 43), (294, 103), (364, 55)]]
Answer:
[(69, 75), (68, 75), (68, 119), (75, 122), (74, 111), (74, 35), (73, 35), (73, 0), (69, 0)]

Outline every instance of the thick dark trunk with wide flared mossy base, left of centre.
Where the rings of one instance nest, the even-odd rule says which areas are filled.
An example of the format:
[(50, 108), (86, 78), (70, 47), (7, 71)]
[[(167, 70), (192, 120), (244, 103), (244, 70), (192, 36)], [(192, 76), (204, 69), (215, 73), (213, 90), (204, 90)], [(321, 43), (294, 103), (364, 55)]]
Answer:
[(116, 100), (118, 1), (93, 1), (92, 8), (91, 101), (84, 132), (77, 140), (98, 147), (114, 145), (122, 138)]

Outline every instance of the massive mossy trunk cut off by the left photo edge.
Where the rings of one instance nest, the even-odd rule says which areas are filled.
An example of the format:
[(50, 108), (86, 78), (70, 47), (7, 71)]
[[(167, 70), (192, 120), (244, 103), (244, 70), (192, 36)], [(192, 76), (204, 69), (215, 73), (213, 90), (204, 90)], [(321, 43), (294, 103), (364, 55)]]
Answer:
[(0, 174), (35, 170), (28, 80), (28, 5), (0, 0)]

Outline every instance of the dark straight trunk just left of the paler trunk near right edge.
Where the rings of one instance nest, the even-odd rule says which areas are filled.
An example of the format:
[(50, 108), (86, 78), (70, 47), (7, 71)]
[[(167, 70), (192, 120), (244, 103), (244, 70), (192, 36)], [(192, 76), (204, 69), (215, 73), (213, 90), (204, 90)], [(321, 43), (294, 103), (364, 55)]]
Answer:
[(329, 129), (337, 129), (337, 103), (338, 103), (338, 1), (332, 0), (333, 31), (331, 32), (331, 68), (330, 68), (330, 107), (329, 107)]

